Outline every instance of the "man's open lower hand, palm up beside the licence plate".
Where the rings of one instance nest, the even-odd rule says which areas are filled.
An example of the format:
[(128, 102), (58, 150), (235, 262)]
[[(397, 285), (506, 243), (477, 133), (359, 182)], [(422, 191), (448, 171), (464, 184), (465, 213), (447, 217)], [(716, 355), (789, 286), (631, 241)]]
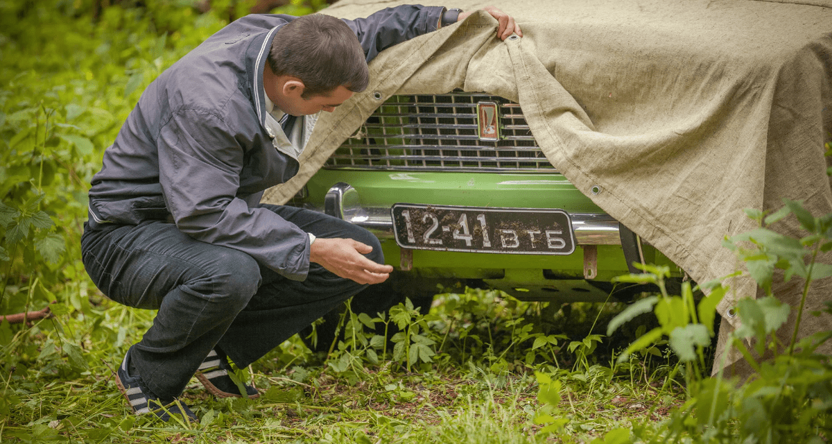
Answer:
[(377, 284), (387, 280), (393, 267), (362, 256), (372, 251), (373, 247), (354, 239), (318, 237), (310, 248), (310, 262), (359, 284)]

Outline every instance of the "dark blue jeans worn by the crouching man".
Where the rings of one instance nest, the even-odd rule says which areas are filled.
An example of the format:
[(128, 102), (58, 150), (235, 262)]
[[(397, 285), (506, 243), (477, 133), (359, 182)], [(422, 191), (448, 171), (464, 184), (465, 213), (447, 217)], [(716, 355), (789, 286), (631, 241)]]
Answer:
[[(378, 239), (364, 228), (301, 208), (261, 206), (316, 237), (364, 242), (373, 247), (366, 257), (384, 263)], [(305, 281), (292, 281), (169, 222), (85, 224), (81, 244), (84, 267), (106, 297), (159, 310), (131, 361), (162, 399), (181, 394), (213, 347), (245, 367), (367, 287), (315, 263)]]

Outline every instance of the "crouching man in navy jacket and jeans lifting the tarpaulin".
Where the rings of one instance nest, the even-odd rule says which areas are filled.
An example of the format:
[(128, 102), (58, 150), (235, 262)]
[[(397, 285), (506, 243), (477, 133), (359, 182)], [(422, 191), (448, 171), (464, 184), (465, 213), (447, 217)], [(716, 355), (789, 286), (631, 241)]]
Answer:
[[(486, 10), (498, 37), (522, 35)], [(158, 310), (118, 367), (134, 412), (196, 419), (174, 402), (195, 374), (217, 397), (258, 397), (231, 381), (229, 360), (248, 366), (387, 279), (393, 267), (364, 228), (260, 197), (295, 176), (314, 117), (367, 87), (379, 51), (465, 15), (418, 5), (356, 20), (250, 15), (147, 87), (92, 179), (82, 236), (107, 297)]]

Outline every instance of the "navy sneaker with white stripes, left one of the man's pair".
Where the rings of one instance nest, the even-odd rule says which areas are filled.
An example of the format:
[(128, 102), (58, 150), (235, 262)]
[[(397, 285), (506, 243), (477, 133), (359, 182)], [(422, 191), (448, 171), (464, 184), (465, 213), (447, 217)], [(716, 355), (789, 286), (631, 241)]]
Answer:
[(130, 374), (130, 352), (132, 349), (133, 347), (130, 347), (130, 350), (127, 350), (124, 360), (121, 361), (121, 367), (118, 367), (116, 386), (121, 390), (121, 394), (124, 395), (133, 412), (136, 415), (152, 413), (164, 422), (168, 422), (171, 415), (180, 415), (186, 421), (199, 421), (194, 412), (191, 412), (191, 409), (184, 402), (176, 399), (166, 402), (159, 399), (141, 381), (138, 374)]

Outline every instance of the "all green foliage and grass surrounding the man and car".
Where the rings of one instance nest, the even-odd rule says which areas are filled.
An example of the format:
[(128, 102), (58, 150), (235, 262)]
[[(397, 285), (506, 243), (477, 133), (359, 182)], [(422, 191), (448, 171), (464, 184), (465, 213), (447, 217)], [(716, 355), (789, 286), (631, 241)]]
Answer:
[[(110, 3), (0, 1), (0, 313), (56, 301), (55, 317), (0, 322), (2, 442), (828, 442), (832, 368), (814, 351), (830, 332), (784, 343), (771, 333), (801, 307), (741, 302), (734, 341), (759, 377), (707, 377), (726, 288), (668, 294), (657, 267), (621, 278), (660, 288), (627, 307), (454, 289), (426, 316), (347, 311), (328, 353), (294, 337), (238, 369), (260, 399), (216, 400), (194, 380), (183, 400), (199, 423), (131, 415), (113, 372), (153, 313), (108, 302), (83, 271), (88, 182), (142, 89), (249, 4)], [(815, 263), (832, 249), (832, 216), (785, 204), (751, 212), (760, 229), (726, 243), (769, 293), (775, 276), (832, 275)], [(767, 230), (782, 217), (806, 236)]]

